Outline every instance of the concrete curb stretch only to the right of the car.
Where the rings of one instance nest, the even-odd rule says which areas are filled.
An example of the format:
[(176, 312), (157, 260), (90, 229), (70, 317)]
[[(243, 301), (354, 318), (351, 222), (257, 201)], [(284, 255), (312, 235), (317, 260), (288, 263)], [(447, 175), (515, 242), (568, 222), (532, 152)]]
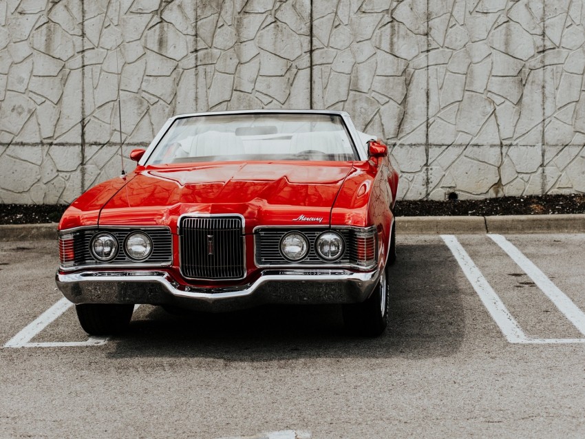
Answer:
[(585, 215), (397, 217), (398, 235), (466, 233), (585, 233)]

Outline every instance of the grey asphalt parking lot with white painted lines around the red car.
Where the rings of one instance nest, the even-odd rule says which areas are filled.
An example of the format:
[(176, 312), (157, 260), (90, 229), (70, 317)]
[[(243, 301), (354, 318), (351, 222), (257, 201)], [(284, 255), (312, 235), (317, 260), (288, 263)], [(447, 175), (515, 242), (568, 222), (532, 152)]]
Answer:
[(88, 339), (56, 244), (0, 243), (0, 437), (584, 437), (585, 234), (398, 241), (379, 339), (335, 306), (140, 306)]

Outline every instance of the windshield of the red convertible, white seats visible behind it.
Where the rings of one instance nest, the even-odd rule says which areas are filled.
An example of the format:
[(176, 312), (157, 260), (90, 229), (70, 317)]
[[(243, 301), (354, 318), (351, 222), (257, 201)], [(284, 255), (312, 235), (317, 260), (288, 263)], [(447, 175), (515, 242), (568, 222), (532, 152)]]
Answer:
[(359, 160), (338, 115), (230, 114), (173, 122), (146, 164)]

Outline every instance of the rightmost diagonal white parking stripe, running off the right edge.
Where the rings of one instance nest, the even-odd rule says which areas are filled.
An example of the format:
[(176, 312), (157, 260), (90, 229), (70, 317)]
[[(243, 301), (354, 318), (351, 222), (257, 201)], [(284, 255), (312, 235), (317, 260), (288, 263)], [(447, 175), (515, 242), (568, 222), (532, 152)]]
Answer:
[(575, 325), (575, 328), (585, 335), (585, 313), (580, 310), (575, 303), (568, 296), (559, 290), (559, 288), (547, 277), (537, 266), (535, 266), (530, 259), (522, 254), (517, 247), (509, 242), (502, 235), (488, 235), (493, 242), (498, 244), (508, 254), (513, 261), (518, 264), (522, 270), (528, 275), (544, 292), (544, 294), (551, 299), (560, 312)]

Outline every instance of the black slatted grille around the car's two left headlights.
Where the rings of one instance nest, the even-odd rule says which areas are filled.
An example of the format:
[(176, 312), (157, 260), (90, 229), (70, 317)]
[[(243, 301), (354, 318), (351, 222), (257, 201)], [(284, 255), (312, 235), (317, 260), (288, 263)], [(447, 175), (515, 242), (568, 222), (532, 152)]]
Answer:
[[(152, 239), (152, 253), (145, 260), (136, 262), (134, 259), (127, 257), (124, 251), (124, 241), (126, 237), (132, 233), (140, 231), (149, 235)], [(92, 242), (92, 237), (98, 232), (111, 233), (118, 240), (118, 255), (113, 261), (101, 262), (94, 257), (89, 250), (89, 246)], [(151, 265), (163, 265), (171, 264), (173, 259), (173, 237), (169, 228), (100, 228), (100, 229), (82, 229), (71, 233), (73, 235), (73, 248), (74, 248), (74, 266), (96, 266), (96, 265), (115, 265), (127, 266), (129, 264), (151, 264)]]

